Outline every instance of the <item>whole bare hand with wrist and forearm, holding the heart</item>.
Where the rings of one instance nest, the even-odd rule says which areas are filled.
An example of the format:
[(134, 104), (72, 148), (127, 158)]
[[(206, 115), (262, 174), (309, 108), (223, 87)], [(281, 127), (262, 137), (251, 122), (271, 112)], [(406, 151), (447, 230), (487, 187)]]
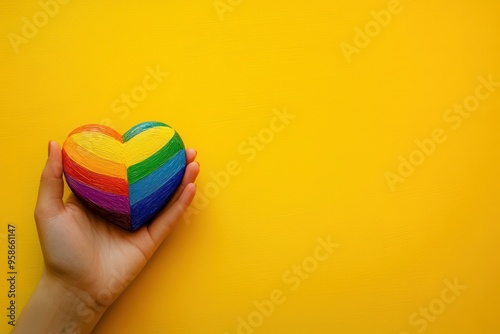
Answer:
[(193, 200), (200, 167), (194, 149), (186, 155), (186, 173), (168, 206), (150, 225), (130, 233), (88, 211), (73, 194), (63, 202), (61, 148), (49, 142), (35, 209), (45, 266), (12, 333), (92, 331)]

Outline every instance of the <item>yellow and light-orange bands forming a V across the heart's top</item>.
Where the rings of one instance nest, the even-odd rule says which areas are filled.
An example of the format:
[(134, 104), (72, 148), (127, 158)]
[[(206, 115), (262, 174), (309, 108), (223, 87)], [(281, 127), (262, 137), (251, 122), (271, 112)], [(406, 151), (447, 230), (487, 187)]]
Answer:
[(158, 152), (174, 135), (174, 129), (161, 126), (121, 143), (100, 132), (84, 131), (67, 139), (66, 152), (73, 161), (96, 173), (126, 179), (128, 167)]

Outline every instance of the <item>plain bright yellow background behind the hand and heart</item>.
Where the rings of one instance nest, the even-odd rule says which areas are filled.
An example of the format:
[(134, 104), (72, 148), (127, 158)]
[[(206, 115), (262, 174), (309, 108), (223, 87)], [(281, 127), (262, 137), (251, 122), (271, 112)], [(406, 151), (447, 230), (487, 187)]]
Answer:
[[(500, 88), (459, 129), (443, 120), (479, 76), (500, 81), (499, 2), (402, 1), (351, 63), (341, 43), (387, 1), (232, 3), (221, 21), (211, 0), (72, 0), (15, 53), (9, 33), (41, 7), (1, 2), (0, 277), (13, 223), (19, 306), (42, 270), (32, 212), (47, 141), (158, 120), (198, 150), (201, 193), (229, 161), (241, 173), (178, 225), (95, 333), (233, 334), (274, 289), (286, 301), (255, 333), (417, 333), (410, 315), (455, 278), (467, 289), (425, 332), (500, 333)], [(169, 75), (120, 117), (113, 101), (148, 66)], [(295, 119), (246, 161), (239, 145), (285, 107)], [(384, 174), (438, 127), (447, 141), (392, 192)], [(340, 247), (291, 291), (282, 275), (329, 235)]]

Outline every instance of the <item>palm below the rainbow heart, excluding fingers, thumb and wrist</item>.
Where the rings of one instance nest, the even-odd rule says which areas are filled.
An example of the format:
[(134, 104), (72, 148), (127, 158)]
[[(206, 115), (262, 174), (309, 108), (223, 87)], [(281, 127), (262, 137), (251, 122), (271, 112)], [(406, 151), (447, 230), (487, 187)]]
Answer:
[(89, 212), (73, 195), (40, 233), (46, 270), (91, 296), (110, 291), (111, 285), (125, 287), (155, 250), (147, 228), (121, 230)]

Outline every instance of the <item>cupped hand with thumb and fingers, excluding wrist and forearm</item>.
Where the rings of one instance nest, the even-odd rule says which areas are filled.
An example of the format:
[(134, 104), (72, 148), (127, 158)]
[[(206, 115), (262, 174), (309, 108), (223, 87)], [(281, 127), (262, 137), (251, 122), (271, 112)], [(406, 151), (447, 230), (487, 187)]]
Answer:
[(46, 273), (110, 304), (139, 274), (193, 199), (192, 182), (199, 172), (195, 157), (194, 150), (187, 151), (186, 173), (169, 205), (149, 226), (131, 233), (90, 212), (73, 194), (62, 203), (60, 149), (52, 148), (35, 212)]

